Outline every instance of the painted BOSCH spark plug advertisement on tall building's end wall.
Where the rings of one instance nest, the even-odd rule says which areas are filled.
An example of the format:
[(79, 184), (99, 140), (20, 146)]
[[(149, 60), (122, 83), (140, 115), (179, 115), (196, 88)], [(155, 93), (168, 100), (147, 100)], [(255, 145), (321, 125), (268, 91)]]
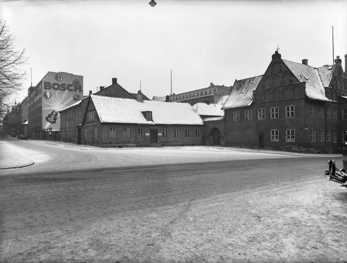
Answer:
[(83, 76), (65, 72), (48, 72), (42, 79), (43, 129), (60, 129), (61, 109), (83, 98)]

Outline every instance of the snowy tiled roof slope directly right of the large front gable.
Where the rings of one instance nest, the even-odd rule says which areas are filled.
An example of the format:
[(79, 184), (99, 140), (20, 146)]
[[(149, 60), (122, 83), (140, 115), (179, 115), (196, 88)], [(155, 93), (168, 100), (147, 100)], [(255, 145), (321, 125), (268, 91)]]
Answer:
[(319, 76), (317, 76), (315, 68), (284, 59), (282, 59), (282, 61), (300, 82), (306, 82), (305, 94), (308, 98), (323, 100), (326, 102), (330, 101), (324, 95), (324, 87), (323, 85), (320, 85)]

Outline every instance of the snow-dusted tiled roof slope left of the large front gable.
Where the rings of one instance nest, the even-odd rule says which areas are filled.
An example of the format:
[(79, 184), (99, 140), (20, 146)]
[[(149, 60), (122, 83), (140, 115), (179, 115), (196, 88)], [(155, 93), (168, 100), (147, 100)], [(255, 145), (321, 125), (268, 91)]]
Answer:
[(222, 106), (222, 109), (249, 105), (253, 99), (253, 90), (257, 88), (262, 77), (263, 75), (248, 79), (236, 80), (229, 97)]

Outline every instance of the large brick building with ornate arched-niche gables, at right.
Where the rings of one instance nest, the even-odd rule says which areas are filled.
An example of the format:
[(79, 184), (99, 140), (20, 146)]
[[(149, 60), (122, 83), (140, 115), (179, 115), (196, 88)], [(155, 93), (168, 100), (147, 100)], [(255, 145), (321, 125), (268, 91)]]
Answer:
[(314, 68), (276, 51), (264, 75), (236, 80), (222, 109), (226, 145), (341, 153), (347, 130), (347, 79), (339, 57)]

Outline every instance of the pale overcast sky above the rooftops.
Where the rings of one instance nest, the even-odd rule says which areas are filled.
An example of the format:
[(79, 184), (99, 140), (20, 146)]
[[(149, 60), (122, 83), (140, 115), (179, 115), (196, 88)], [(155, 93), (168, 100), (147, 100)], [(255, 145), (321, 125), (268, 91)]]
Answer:
[(179, 1), (156, 0), (0, 1), (3, 18), (26, 49), (28, 79), (48, 71), (84, 76), (84, 93), (111, 85), (152, 98), (230, 86), (259, 76), (277, 45), (283, 59), (321, 67), (347, 54), (347, 0)]

